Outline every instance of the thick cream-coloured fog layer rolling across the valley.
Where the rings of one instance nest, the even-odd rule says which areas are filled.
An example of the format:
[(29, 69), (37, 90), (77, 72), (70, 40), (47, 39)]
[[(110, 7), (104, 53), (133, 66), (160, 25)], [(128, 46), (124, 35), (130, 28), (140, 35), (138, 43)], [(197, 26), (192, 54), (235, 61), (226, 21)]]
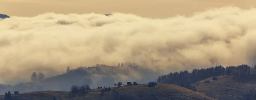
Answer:
[[(254, 64), (256, 9), (209, 9), (192, 17), (150, 19), (132, 14), (11, 16), (0, 20), (0, 82), (29, 81), (98, 63), (134, 62), (173, 72)], [(98, 76), (95, 76), (98, 77)]]

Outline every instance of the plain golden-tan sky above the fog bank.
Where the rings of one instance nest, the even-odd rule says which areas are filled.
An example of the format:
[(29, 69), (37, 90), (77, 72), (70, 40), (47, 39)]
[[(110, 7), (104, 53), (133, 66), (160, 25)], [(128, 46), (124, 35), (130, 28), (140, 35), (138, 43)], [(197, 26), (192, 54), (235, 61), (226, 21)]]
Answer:
[(222, 6), (251, 8), (256, 0), (0, 0), (0, 13), (33, 17), (45, 12), (61, 14), (131, 13), (142, 17), (190, 16), (198, 11)]

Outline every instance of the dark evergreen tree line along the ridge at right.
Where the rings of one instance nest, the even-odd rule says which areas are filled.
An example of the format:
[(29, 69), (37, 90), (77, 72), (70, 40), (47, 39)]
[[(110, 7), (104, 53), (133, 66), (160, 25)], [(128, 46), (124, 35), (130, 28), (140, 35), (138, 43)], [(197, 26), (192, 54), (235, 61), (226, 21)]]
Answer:
[(169, 74), (159, 76), (157, 78), (157, 83), (170, 83), (189, 89), (192, 83), (219, 75), (233, 75), (234, 79), (240, 81), (241, 83), (246, 83), (251, 81), (253, 77), (256, 77), (256, 66), (250, 67), (246, 64), (242, 64), (239, 66), (228, 66), (224, 68), (220, 65), (206, 69), (193, 69), (192, 72), (187, 70), (170, 72)]

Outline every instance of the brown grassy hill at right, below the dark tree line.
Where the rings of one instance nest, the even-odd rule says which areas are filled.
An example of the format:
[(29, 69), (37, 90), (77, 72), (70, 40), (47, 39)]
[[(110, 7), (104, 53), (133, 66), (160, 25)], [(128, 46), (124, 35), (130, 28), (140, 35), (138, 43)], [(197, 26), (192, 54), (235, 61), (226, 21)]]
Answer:
[(242, 95), (251, 92), (250, 89), (254, 90), (255, 87), (253, 83), (242, 84), (234, 80), (233, 75), (221, 75), (217, 78), (217, 81), (212, 80), (212, 77), (205, 79), (210, 83), (202, 80), (192, 85), (196, 86), (197, 92), (218, 100), (242, 100)]

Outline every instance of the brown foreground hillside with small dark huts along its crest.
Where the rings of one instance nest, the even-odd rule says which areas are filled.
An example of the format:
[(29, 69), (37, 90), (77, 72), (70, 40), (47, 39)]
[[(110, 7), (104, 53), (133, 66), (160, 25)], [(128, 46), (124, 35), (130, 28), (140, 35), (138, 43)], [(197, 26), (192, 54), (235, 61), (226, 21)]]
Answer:
[[(213, 100), (198, 92), (172, 84), (157, 84), (148, 87), (147, 84), (136, 86), (113, 87), (109, 94), (101, 94), (101, 89), (93, 89), (85, 94), (70, 95), (64, 91), (39, 91), (21, 93), (14, 100)], [(0, 95), (0, 98), (3, 95)], [(139, 99), (140, 98), (140, 99)]]

